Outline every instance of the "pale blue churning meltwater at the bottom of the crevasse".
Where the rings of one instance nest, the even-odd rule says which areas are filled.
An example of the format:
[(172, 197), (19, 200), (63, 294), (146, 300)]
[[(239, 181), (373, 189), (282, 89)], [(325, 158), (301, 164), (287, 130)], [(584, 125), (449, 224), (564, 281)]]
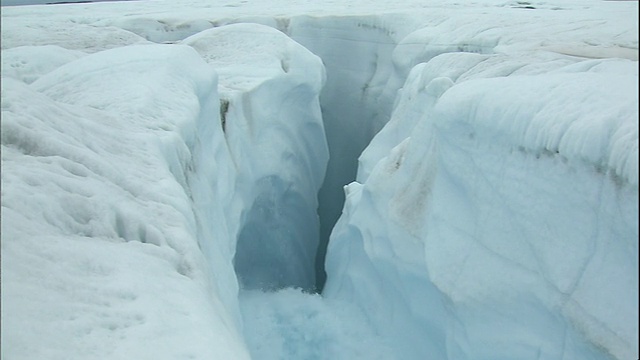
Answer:
[(353, 304), (296, 288), (241, 290), (244, 336), (256, 360), (393, 359)]

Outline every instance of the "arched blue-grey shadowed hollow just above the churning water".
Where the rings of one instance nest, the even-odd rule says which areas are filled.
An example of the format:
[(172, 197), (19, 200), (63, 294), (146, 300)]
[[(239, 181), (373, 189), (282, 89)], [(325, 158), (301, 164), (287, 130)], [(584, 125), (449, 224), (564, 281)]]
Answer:
[(318, 215), (295, 186), (278, 176), (256, 184), (259, 195), (244, 214), (234, 267), (245, 290), (315, 290)]

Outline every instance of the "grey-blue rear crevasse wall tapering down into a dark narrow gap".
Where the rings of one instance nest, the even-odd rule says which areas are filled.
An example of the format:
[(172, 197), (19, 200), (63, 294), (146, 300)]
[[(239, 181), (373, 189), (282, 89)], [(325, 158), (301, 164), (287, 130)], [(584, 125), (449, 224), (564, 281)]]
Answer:
[(355, 179), (358, 156), (391, 113), (392, 97), (382, 91), (396, 36), (376, 16), (300, 16), (290, 20), (286, 31), (327, 68), (320, 99), (330, 157), (318, 194), (320, 246), (315, 259), (321, 290), (329, 236), (344, 205), (342, 186)]

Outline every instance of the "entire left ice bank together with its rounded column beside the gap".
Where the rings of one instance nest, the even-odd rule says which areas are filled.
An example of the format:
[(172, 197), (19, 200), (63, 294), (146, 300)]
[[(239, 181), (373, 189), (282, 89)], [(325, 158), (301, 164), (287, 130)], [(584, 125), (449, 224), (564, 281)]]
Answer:
[[(68, 53), (12, 50), (7, 61), (34, 68)], [(15, 77), (2, 82), (3, 356), (248, 358), (234, 255), (260, 253), (255, 286), (313, 288), (309, 209), (328, 157), (319, 58), (239, 24)], [(285, 249), (245, 244), (261, 226), (289, 235)], [(236, 267), (241, 281), (252, 271)]]

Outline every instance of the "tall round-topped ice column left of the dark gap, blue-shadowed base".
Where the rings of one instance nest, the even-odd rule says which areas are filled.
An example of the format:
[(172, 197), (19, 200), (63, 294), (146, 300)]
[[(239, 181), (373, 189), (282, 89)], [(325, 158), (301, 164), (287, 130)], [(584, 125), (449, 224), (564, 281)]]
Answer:
[(235, 165), (234, 266), (243, 288), (315, 289), (317, 192), (327, 146), (319, 58), (258, 24), (205, 30), (193, 46), (220, 74), (225, 140)]

